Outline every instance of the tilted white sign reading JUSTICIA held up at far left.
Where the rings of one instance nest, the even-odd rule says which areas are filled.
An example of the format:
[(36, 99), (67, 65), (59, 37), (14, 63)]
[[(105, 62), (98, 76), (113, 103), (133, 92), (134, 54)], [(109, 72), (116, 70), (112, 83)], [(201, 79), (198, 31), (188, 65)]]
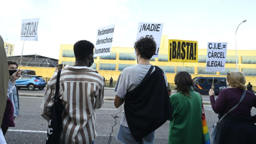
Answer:
[(37, 41), (39, 18), (21, 21), (20, 41)]

